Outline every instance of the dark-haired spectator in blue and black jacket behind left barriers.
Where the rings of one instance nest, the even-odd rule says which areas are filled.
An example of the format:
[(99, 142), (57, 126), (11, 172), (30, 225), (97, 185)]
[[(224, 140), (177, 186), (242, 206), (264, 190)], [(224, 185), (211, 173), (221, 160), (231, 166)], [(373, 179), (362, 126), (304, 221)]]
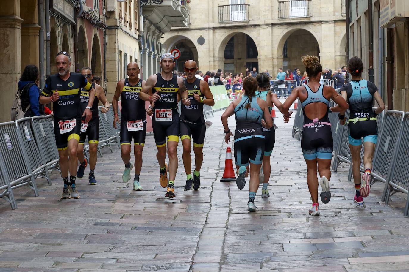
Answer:
[(18, 82), (20, 90), (21, 108), (25, 111), (24, 117), (44, 115), (45, 106), (38, 102), (41, 90), (38, 88), (38, 68), (35, 65), (27, 65)]

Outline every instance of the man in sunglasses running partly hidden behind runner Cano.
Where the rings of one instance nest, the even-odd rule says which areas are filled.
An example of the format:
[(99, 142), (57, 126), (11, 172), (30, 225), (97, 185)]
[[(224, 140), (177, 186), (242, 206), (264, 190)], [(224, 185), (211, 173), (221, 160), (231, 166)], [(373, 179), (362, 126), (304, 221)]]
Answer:
[[(85, 76), (88, 82), (92, 82), (94, 74), (90, 67), (83, 67), (81, 69), (81, 74)], [(98, 136), (99, 136), (99, 117), (98, 117), (98, 102), (101, 101), (104, 105), (101, 108), (101, 113), (106, 113), (109, 111), (109, 102), (106, 100), (105, 93), (103, 88), (92, 82), (92, 88), (95, 89), (95, 99), (92, 103), (92, 118), (90, 122), (85, 122), (85, 118), (81, 119), (81, 135), (79, 137), (79, 144), (77, 149), (77, 157), (80, 162), (79, 168), (77, 171), (77, 177), (82, 179), (84, 176), (85, 167), (87, 167), (88, 161), (84, 158), (84, 143), (85, 137), (88, 135), (88, 144), (89, 144), (89, 153), (90, 153), (90, 174), (88, 175), (89, 184), (97, 184), (95, 179), (94, 170), (95, 165), (97, 164), (97, 147), (98, 147)], [(81, 111), (85, 111), (85, 108), (88, 106), (90, 94), (87, 91), (84, 91), (81, 88)]]

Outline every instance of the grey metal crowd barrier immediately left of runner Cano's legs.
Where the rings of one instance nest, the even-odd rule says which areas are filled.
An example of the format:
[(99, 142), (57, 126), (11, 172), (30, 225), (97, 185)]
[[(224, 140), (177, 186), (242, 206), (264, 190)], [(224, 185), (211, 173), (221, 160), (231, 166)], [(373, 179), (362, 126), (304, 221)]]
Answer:
[(58, 155), (57, 146), (55, 143), (53, 117), (52, 115), (40, 115), (31, 117), (33, 119), (33, 130), (38, 137), (36, 140), (40, 149), (44, 150), (44, 159), (47, 165), (47, 169), (56, 169), (60, 172), (58, 161), (60, 157)]

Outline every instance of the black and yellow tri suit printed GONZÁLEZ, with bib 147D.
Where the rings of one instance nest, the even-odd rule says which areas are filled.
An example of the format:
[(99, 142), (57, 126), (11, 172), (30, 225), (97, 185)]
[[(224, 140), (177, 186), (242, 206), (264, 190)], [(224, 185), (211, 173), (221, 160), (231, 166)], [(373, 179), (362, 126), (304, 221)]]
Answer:
[(178, 113), (178, 77), (173, 75), (171, 80), (164, 80), (160, 73), (156, 74), (157, 81), (152, 88), (160, 98), (155, 102), (152, 116), (153, 137), (157, 147), (166, 146), (167, 142), (179, 142), (180, 117)]

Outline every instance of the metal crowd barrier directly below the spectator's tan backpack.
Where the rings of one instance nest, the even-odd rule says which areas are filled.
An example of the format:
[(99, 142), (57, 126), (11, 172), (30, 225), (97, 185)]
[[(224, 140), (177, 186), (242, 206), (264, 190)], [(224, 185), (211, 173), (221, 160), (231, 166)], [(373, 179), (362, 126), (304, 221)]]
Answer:
[(44, 150), (40, 144), (39, 136), (34, 130), (33, 119), (31, 117), (18, 119), (16, 126), (21, 142), (27, 151), (29, 166), (31, 166), (34, 177), (44, 177), (47, 179), (48, 185), (52, 185), (45, 162)]

